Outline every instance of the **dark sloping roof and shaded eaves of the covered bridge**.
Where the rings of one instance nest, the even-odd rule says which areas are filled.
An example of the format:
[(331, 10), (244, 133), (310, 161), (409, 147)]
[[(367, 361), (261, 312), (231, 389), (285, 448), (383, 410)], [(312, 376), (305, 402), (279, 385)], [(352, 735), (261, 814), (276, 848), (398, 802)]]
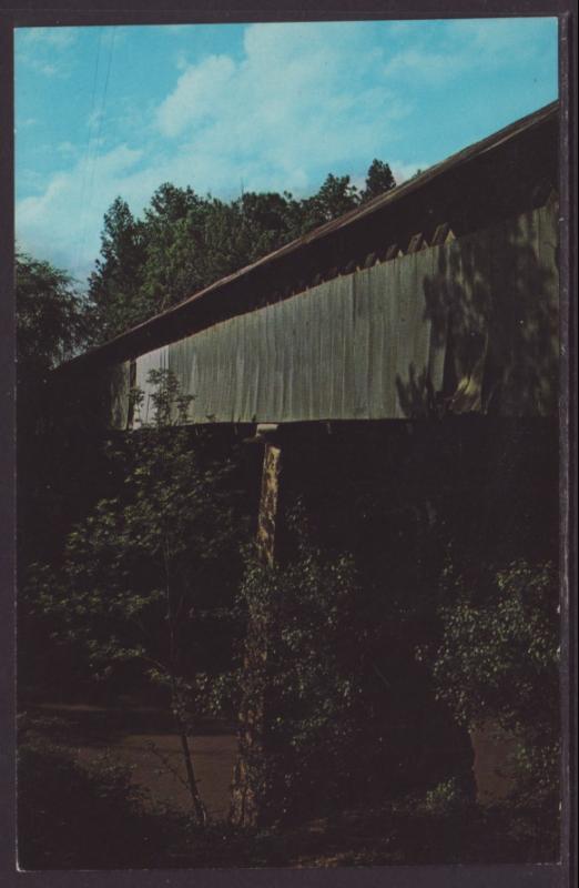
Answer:
[[(167, 311), (67, 362), (59, 373), (125, 361), (227, 317), (305, 289), (315, 274), (447, 223), (457, 235), (528, 209), (537, 188), (557, 188), (558, 102), (465, 148)], [(535, 199), (536, 200), (536, 199)], [(332, 275), (329, 275), (332, 276)]]

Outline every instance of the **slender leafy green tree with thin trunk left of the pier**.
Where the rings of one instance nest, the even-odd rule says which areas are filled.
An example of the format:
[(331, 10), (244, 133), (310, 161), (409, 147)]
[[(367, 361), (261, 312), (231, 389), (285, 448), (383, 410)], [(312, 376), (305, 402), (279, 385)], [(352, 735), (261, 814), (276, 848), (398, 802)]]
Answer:
[(152, 425), (111, 452), (122, 491), (72, 529), (60, 565), (32, 565), (26, 594), (53, 639), (77, 648), (95, 675), (104, 679), (130, 665), (165, 688), (193, 810), (204, 825), (189, 744), (199, 712), (194, 676), (203, 666), (194, 635), (203, 633), (206, 610), (226, 602), (216, 573), (225, 561), (234, 577), (242, 522), (226, 484), (231, 463), (204, 453), (202, 435), (192, 446), (182, 425), (187, 398), (174, 376), (152, 372), (151, 382)]

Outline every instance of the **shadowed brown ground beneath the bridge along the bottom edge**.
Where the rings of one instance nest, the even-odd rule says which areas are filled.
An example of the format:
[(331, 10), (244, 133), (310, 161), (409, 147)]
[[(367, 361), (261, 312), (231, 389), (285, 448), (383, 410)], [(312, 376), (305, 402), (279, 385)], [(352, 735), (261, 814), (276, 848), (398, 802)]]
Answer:
[[(522, 844), (514, 840), (508, 809), (465, 808), (436, 798), (385, 799), (372, 807), (331, 810), (280, 830), (233, 830), (225, 818), (236, 739), (231, 725), (216, 720), (201, 723), (192, 738), (212, 821), (200, 833), (189, 819), (186, 788), (174, 773), (182, 763), (170, 714), (144, 707), (37, 704), (27, 707), (24, 720), (29, 726), (27, 743), (32, 740), (37, 753), (35, 758), (28, 759), (19, 784), (19, 798), (26, 799), (20, 823), (23, 869), (552, 859), (551, 852), (541, 850), (532, 838)], [(51, 748), (64, 750), (72, 767), (54, 769)], [(139, 810), (124, 805), (131, 794), (122, 783), (120, 794), (111, 789), (113, 771), (101, 770), (98, 774), (104, 777), (92, 783), (83, 780), (82, 775), (90, 773), (106, 751), (112, 754), (112, 761), (130, 766), (130, 785), (138, 790)]]

